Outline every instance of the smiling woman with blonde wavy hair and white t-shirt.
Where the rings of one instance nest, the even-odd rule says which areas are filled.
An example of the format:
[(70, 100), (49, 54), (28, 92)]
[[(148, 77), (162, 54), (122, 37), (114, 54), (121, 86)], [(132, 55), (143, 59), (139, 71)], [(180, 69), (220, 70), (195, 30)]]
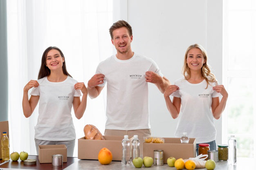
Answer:
[(223, 85), (218, 85), (215, 75), (211, 73), (207, 52), (201, 45), (188, 47), (182, 70), (184, 77), (168, 86), (164, 93), (166, 106), (173, 119), (180, 115), (175, 137), (181, 137), (183, 132), (187, 132), (189, 137), (196, 138), (197, 154), (198, 145), (202, 143), (209, 144), (210, 150), (216, 150), (217, 133), (213, 118), (220, 118), (228, 93)]

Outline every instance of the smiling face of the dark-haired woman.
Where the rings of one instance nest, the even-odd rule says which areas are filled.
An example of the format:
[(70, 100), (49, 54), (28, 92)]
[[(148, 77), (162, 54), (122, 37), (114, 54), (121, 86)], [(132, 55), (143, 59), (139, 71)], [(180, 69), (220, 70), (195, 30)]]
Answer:
[(50, 50), (46, 55), (45, 65), (52, 70), (62, 70), (64, 58), (61, 56), (60, 52), (56, 49)]

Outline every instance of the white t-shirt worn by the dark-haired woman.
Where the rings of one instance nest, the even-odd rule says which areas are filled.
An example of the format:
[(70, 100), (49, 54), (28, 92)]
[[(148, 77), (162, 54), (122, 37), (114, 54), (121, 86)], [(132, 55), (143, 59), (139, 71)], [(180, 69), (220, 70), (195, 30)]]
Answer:
[(39, 114), (35, 126), (35, 138), (47, 141), (69, 141), (76, 139), (71, 109), (74, 97), (81, 91), (74, 89), (76, 80), (67, 76), (63, 82), (49, 82), (47, 77), (38, 79), (39, 86), (31, 95), (40, 96)]

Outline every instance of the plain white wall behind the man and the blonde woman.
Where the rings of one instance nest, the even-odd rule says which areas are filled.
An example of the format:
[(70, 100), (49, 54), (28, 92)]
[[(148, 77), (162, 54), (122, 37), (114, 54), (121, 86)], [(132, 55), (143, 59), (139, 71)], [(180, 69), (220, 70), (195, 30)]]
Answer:
[[(171, 83), (182, 76), (185, 51), (195, 43), (207, 50), (213, 73), (222, 83), (222, 0), (115, 1), (119, 0), (114, 0), (113, 22), (127, 20), (132, 26), (132, 51), (155, 60)], [(149, 110), (152, 135), (174, 137), (178, 119), (171, 118), (163, 94), (153, 84)], [(216, 128), (216, 143), (221, 144), (221, 119)]]

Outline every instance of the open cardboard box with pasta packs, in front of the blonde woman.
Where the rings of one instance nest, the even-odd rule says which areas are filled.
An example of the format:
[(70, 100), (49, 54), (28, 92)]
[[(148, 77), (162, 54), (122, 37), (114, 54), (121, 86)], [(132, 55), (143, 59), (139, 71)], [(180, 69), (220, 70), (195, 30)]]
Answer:
[(189, 138), (189, 144), (181, 144), (180, 138), (164, 138), (163, 144), (143, 143), (143, 156), (154, 158), (154, 150), (164, 151), (164, 163), (168, 157), (189, 159), (195, 157), (195, 138)]

